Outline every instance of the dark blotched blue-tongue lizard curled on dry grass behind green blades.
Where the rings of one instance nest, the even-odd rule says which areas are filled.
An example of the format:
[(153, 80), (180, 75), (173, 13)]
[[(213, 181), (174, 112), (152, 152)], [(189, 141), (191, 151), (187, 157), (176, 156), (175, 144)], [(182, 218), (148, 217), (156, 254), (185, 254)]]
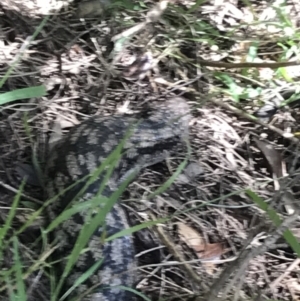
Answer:
[[(189, 106), (180, 97), (166, 100), (156, 107), (152, 114), (148, 114), (141, 120), (127, 115), (94, 116), (87, 119), (72, 128), (51, 150), (45, 171), (47, 197), (55, 196), (74, 181), (93, 172), (118, 146), (130, 126), (136, 125), (133, 127), (131, 136), (126, 140), (122, 157), (103, 190), (102, 194), (109, 197), (133, 173), (136, 175), (142, 168), (158, 163), (168, 155), (176, 153), (183, 139), (188, 138), (189, 121)], [(85, 202), (93, 198), (102, 181), (103, 177), (99, 176), (77, 201)], [(50, 220), (57, 217), (70, 204), (83, 185), (84, 183), (75, 186), (50, 206), (48, 209)], [(62, 258), (71, 253), (79, 231), (85, 223), (86, 215), (86, 211), (81, 211), (61, 223), (55, 230), (54, 237), (59, 242), (55, 256)], [(116, 203), (106, 217), (106, 235), (109, 237), (124, 228), (128, 228), (126, 214), (122, 206)], [(79, 257), (67, 277), (64, 290), (71, 287), (80, 275), (97, 260), (103, 258), (99, 270), (80, 285), (73, 296), (78, 296), (91, 286), (99, 285), (98, 290), (96, 289), (83, 300), (133, 300), (132, 293), (113, 288), (118, 285), (133, 287), (136, 281), (132, 237), (124, 236), (103, 245), (99, 239), (102, 232), (103, 229), (99, 228), (88, 242), (90, 249)], [(62, 261), (61, 268), (64, 263), (65, 261)], [(108, 286), (110, 286), (109, 289), (101, 290)]]

